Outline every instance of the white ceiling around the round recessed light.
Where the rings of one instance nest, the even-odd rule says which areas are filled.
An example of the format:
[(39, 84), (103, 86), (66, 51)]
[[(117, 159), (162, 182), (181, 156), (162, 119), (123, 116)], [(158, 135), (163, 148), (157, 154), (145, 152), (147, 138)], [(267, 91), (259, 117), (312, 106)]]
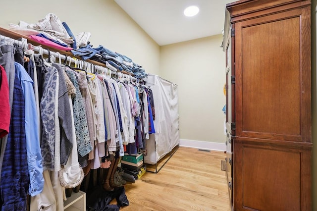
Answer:
[[(225, 4), (234, 0), (114, 0), (159, 44), (173, 43), (221, 34)], [(186, 17), (189, 5), (200, 8), (198, 15)]]

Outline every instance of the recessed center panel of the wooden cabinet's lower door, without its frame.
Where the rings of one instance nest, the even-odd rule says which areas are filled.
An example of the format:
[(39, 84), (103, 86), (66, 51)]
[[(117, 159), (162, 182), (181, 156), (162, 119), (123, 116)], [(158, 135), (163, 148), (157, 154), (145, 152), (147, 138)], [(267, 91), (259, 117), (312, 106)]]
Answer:
[(300, 153), (244, 147), (243, 157), (245, 207), (300, 210)]

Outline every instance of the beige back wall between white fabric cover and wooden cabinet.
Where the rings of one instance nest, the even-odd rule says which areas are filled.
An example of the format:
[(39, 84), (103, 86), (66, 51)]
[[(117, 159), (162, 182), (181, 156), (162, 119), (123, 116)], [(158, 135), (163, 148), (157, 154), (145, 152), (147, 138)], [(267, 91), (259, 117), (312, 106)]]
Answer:
[(178, 85), (181, 139), (224, 143), (222, 35), (160, 48), (160, 76)]

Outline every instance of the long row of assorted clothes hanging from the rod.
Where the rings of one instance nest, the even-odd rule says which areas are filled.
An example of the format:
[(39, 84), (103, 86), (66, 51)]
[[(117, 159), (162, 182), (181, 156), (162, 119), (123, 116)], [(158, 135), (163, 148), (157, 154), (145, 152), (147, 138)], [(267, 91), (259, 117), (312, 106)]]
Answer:
[[(138, 84), (51, 63), (43, 52), (2, 44), (0, 50), (0, 99), (6, 97), (0, 112), (12, 109), (6, 128), (0, 125), (2, 210), (24, 210), (27, 194), (31, 209), (63, 210), (65, 187), (81, 183), (82, 167), (107, 168), (115, 152), (118, 159), (146, 149), (153, 114)], [(126, 59), (115, 53), (108, 62), (132, 69)]]

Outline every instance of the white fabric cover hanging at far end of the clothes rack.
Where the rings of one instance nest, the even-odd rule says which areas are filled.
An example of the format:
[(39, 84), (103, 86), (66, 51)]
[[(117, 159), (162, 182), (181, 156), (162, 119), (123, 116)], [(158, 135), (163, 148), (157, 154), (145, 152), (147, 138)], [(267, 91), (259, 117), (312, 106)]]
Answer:
[(179, 144), (177, 85), (157, 75), (148, 75), (147, 85), (153, 92), (155, 134), (147, 140), (145, 163), (155, 164)]

